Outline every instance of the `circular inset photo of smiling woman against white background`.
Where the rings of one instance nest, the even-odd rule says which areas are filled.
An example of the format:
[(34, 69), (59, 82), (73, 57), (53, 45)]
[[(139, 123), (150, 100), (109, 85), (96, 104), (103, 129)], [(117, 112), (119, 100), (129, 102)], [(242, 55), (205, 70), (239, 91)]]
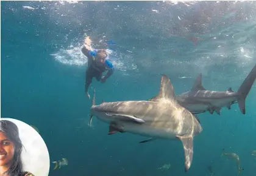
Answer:
[(49, 152), (35, 127), (0, 118), (0, 175), (48, 176)]

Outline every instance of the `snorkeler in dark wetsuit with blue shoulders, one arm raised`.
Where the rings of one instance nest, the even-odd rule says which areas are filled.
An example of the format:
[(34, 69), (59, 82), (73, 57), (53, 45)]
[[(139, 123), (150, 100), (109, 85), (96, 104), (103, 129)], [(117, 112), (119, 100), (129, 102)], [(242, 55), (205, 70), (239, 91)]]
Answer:
[[(107, 60), (108, 54), (105, 49), (93, 50), (91, 48), (91, 39), (89, 36), (85, 38), (82, 53), (88, 58), (88, 67), (85, 73), (85, 93), (87, 93), (88, 98), (90, 98), (88, 88), (93, 77), (95, 77), (97, 81), (105, 83), (107, 78), (113, 74), (114, 67), (112, 63)], [(102, 76), (102, 73), (106, 70), (108, 70), (107, 74)]]

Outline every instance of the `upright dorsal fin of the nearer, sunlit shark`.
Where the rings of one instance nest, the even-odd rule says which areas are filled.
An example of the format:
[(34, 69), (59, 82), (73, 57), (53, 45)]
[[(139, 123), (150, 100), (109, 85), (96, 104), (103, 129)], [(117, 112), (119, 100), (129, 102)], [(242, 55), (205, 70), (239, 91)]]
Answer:
[(162, 75), (160, 91), (156, 96), (149, 99), (148, 101), (159, 101), (162, 98), (171, 100), (175, 98), (175, 93), (171, 81), (165, 74)]

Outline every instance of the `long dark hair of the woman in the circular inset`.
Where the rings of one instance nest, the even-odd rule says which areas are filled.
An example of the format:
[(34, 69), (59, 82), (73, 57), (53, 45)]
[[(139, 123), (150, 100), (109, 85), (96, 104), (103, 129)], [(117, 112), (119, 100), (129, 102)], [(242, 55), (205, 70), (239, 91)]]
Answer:
[(10, 141), (14, 143), (15, 151), (13, 155), (13, 162), (4, 175), (20, 176), (23, 174), (23, 163), (21, 161), (21, 152), (23, 151), (23, 144), (21, 143), (19, 130), (16, 124), (9, 120), (0, 120), (0, 132), (3, 132)]

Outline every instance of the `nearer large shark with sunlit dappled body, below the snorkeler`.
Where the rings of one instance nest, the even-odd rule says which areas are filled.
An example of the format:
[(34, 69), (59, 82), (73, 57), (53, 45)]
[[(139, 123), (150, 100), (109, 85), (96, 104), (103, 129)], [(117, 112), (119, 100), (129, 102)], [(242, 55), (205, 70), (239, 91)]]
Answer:
[(94, 90), (90, 125), (93, 116), (109, 124), (109, 135), (130, 132), (149, 137), (141, 143), (158, 138), (182, 141), (185, 172), (193, 160), (193, 138), (202, 132), (199, 120), (175, 100), (174, 89), (166, 75), (162, 75), (158, 95), (149, 101), (102, 102), (95, 106)]

